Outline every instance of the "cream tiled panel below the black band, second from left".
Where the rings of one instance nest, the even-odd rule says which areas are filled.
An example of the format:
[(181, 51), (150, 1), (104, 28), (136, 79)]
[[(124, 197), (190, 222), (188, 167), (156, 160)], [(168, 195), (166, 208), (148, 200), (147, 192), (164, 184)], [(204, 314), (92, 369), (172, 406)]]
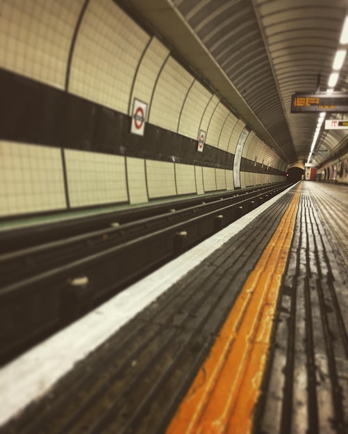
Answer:
[(65, 164), (71, 207), (128, 202), (124, 157), (66, 149)]

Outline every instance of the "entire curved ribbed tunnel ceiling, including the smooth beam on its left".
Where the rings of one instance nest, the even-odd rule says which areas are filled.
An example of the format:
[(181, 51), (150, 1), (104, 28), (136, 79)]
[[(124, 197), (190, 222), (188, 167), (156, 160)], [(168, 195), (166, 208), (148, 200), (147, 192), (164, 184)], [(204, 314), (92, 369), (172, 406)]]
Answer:
[[(346, 0), (127, 3), (132, 3), (288, 164), (306, 161), (318, 116), (291, 114), (291, 96), (315, 92), (319, 74), (321, 91), (326, 91), (348, 13)], [(346, 60), (336, 91), (347, 90), (347, 72)], [(335, 116), (326, 114), (326, 119)], [(322, 130), (314, 164), (320, 165), (337, 146), (347, 146), (346, 137), (345, 130)]]

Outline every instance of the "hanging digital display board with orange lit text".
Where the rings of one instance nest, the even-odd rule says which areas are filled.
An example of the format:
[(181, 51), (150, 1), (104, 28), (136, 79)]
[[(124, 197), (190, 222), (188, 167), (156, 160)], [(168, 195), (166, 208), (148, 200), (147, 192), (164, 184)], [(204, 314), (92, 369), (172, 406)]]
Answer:
[(348, 113), (348, 94), (293, 94), (291, 113)]

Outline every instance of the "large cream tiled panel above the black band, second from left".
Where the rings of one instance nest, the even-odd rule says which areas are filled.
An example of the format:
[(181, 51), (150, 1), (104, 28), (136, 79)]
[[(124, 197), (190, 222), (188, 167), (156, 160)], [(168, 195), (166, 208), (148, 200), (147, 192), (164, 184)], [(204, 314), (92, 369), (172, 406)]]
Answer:
[(149, 35), (112, 0), (91, 0), (76, 38), (69, 92), (129, 112), (129, 96)]

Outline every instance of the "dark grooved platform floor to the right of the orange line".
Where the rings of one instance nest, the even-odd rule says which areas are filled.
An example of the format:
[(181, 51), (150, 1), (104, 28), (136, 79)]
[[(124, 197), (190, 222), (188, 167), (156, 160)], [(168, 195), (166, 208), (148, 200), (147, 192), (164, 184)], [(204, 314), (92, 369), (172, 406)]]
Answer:
[(257, 433), (348, 433), (348, 206), (335, 196), (301, 191)]

